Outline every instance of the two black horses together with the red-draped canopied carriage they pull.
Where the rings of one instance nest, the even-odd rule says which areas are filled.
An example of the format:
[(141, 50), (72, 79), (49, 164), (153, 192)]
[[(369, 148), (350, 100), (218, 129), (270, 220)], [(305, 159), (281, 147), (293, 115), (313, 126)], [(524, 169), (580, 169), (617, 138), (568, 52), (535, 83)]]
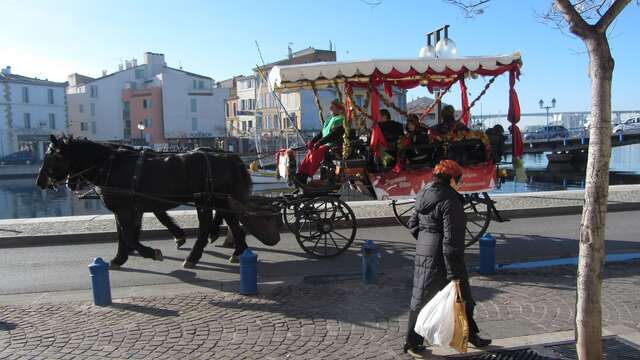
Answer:
[[(372, 199), (391, 200), (397, 220), (405, 225), (413, 209), (413, 201), (407, 198), (431, 180), (432, 165), (443, 158), (454, 158), (464, 168), (459, 191), (465, 194), (467, 244), (471, 244), (486, 231), (491, 219), (498, 216), (487, 193), (496, 186), (497, 168), (489, 156), (490, 144), (481, 133), (471, 130), (436, 136), (423, 145), (429, 154), (430, 162), (426, 165), (412, 168), (396, 159), (393, 169), (385, 168), (377, 162), (385, 150), (377, 126), (379, 104), (382, 101), (388, 109), (406, 116), (406, 111), (391, 98), (394, 88), (438, 88), (438, 96), (433, 105), (422, 112), (423, 118), (455, 83), (459, 83), (462, 90), (460, 119), (465, 122), (468, 121), (469, 110), (496, 77), (508, 73), (508, 119), (512, 123), (513, 153), (518, 157), (521, 140), (516, 126), (519, 106), (514, 85), (520, 66), (520, 55), (514, 53), (495, 57), (328, 62), (274, 67), (269, 74), (274, 91), (309, 89), (320, 105), (318, 89), (332, 88), (346, 105), (347, 120), (343, 125), (345, 136), (342, 146), (339, 151), (334, 151), (333, 158), (325, 161), (321, 179), (300, 185), (297, 191), (279, 197), (250, 196), (249, 174), (237, 155), (205, 149), (163, 154), (54, 136), (37, 183), (42, 188), (79, 181), (92, 185), (105, 206), (116, 215), (119, 245), (116, 257), (111, 260), (112, 268), (126, 262), (132, 250), (143, 257), (162, 259), (158, 249), (151, 249), (138, 241), (143, 212), (154, 212), (158, 216), (179, 205), (196, 207), (198, 239), (184, 263), (184, 266), (191, 267), (200, 260), (207, 238), (217, 237), (217, 228), (223, 218), (236, 239), (233, 256), (247, 247), (239, 222), (265, 244), (275, 245), (279, 241), (279, 233), (274, 225), (281, 220), (295, 234), (304, 251), (317, 257), (339, 255), (349, 248), (357, 231), (354, 212), (341, 199), (345, 189)], [(468, 103), (464, 81), (478, 76), (490, 76), (491, 79), (479, 96)], [(366, 91), (364, 103), (354, 100), (356, 89)], [(365, 130), (367, 121), (371, 121), (371, 133), (370, 138), (363, 141), (358, 133)], [(463, 150), (454, 151), (456, 148)], [(215, 216), (212, 216), (212, 210), (215, 210)], [(163, 218), (161, 222), (170, 230), (175, 229), (166, 213), (158, 218)]]

